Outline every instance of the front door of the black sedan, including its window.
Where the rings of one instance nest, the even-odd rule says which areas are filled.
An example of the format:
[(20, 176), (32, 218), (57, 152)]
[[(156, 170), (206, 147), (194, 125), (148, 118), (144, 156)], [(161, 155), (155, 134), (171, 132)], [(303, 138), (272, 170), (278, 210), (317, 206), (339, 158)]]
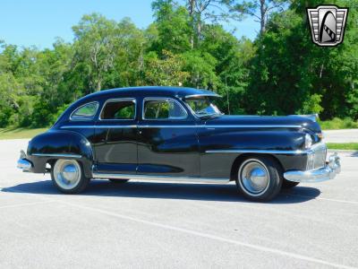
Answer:
[(139, 121), (138, 174), (200, 177), (195, 119), (179, 100), (142, 100)]

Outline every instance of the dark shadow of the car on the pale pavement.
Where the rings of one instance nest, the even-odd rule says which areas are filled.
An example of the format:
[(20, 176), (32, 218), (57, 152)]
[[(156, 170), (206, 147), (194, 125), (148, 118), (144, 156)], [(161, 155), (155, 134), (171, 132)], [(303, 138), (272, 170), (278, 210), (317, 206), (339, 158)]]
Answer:
[[(62, 195), (52, 185), (51, 180), (23, 183), (13, 187), (4, 187), (3, 192), (37, 195)], [(248, 202), (238, 194), (234, 184), (185, 184), (129, 181), (114, 184), (107, 180), (92, 180), (90, 186), (80, 195), (112, 196), (156, 199), (185, 199), (218, 202)], [(320, 190), (314, 187), (294, 187), (284, 189), (272, 204), (296, 204), (314, 199)]]

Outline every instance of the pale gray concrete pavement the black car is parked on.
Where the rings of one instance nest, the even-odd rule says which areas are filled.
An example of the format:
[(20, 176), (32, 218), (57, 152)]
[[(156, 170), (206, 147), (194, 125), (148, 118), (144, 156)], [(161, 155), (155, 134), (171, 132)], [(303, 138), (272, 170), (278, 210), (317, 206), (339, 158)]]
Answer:
[(334, 180), (245, 201), (234, 185), (97, 180), (62, 195), (0, 141), (0, 268), (358, 267), (358, 155)]

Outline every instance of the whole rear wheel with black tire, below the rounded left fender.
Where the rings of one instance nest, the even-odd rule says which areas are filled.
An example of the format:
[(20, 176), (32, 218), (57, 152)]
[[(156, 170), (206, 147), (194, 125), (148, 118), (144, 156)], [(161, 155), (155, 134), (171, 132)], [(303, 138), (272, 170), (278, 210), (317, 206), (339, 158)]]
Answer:
[(55, 187), (65, 194), (78, 194), (90, 182), (86, 178), (81, 163), (75, 160), (60, 159), (55, 161), (51, 169), (51, 178)]

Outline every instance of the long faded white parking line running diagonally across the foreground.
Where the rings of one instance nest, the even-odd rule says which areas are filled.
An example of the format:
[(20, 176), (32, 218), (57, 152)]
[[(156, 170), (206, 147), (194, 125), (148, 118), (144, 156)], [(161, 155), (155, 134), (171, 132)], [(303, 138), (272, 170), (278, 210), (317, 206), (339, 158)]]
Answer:
[(110, 211), (106, 211), (106, 210), (102, 210), (102, 209), (98, 209), (98, 208), (94, 208), (94, 207), (89, 207), (89, 206), (85, 206), (85, 205), (80, 205), (80, 204), (72, 204), (72, 203), (68, 203), (68, 202), (64, 202), (64, 201), (58, 201), (58, 203), (61, 204), (67, 204), (69, 206), (72, 207), (77, 207), (83, 210), (88, 210), (88, 211), (92, 211), (92, 212), (96, 212), (96, 213), (102, 213), (102, 214), (106, 214), (108, 216), (112, 216), (112, 217), (116, 217), (116, 218), (120, 218), (120, 219), (124, 219), (124, 220), (128, 220), (128, 221), (135, 221), (135, 222), (139, 222), (139, 223), (143, 223), (143, 224), (147, 224), (150, 226), (154, 226), (154, 227), (158, 227), (158, 228), (162, 228), (162, 229), (166, 229), (166, 230), (175, 230), (175, 231), (179, 231), (179, 232), (183, 232), (186, 234), (191, 234), (191, 235), (195, 235), (198, 236), (200, 238), (205, 238), (205, 239), (213, 239), (213, 240), (217, 240), (220, 242), (225, 242), (225, 243), (229, 243), (229, 244), (233, 244), (236, 246), (240, 246), (240, 247), (247, 247), (247, 248), (251, 248), (251, 249), (255, 249), (255, 250), (259, 250), (259, 251), (264, 251), (264, 252), (268, 252), (268, 253), (272, 253), (278, 256), (288, 256), (288, 257), (292, 257), (295, 259), (300, 259), (306, 262), (311, 262), (311, 263), (315, 263), (315, 264), (320, 264), (320, 265), (328, 265), (328, 266), (332, 266), (332, 267), (337, 267), (337, 268), (357, 268), (357, 267), (352, 267), (352, 266), (347, 266), (347, 265), (340, 265), (340, 264), (336, 264), (336, 263), (330, 263), (318, 258), (314, 258), (311, 256), (303, 256), (303, 255), (299, 255), (299, 254), (295, 254), (293, 252), (288, 252), (288, 251), (283, 251), (283, 250), (279, 250), (276, 248), (271, 248), (271, 247), (262, 247), (259, 245), (254, 245), (254, 244), (250, 244), (250, 243), (245, 243), (242, 241), (238, 241), (238, 240), (233, 240), (233, 239), (226, 239), (226, 238), (222, 238), (216, 235), (212, 235), (209, 233), (203, 233), (200, 231), (196, 231), (196, 230), (188, 230), (188, 229), (183, 229), (183, 228), (179, 228), (179, 227), (175, 227), (175, 226), (171, 226), (171, 225), (166, 225), (166, 224), (162, 224), (162, 223), (158, 223), (158, 222), (154, 222), (154, 221), (146, 221), (146, 220), (142, 220), (139, 218), (134, 218), (134, 217), (130, 217), (124, 214), (120, 214), (120, 213), (113, 213)]

